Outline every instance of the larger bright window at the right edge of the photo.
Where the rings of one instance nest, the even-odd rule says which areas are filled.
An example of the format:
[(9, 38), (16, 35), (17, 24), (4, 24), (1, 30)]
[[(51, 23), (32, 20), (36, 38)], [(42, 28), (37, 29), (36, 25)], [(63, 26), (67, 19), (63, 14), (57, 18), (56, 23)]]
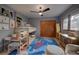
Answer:
[(70, 19), (70, 30), (79, 31), (79, 14), (71, 16), (71, 19)]

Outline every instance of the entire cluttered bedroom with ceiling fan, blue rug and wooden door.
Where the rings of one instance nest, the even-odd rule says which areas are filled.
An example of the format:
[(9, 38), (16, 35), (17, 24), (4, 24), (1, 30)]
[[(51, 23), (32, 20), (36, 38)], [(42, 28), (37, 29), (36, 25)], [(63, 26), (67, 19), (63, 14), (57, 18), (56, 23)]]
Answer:
[(0, 55), (79, 54), (78, 10), (78, 4), (1, 4)]

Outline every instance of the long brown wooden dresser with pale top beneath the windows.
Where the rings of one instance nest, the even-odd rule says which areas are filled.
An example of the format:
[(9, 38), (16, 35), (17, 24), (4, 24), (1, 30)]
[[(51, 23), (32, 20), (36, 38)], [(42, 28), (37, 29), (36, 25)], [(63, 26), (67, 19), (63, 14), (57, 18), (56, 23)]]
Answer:
[(67, 44), (77, 44), (79, 45), (79, 40), (76, 37), (69, 36), (68, 34), (57, 33), (57, 41), (59, 45), (65, 49)]

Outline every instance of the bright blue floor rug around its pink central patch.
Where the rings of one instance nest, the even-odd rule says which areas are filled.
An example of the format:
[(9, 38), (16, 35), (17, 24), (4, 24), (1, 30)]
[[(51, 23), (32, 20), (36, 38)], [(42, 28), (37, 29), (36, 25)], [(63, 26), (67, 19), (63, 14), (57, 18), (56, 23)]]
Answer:
[[(37, 46), (37, 42), (42, 42), (41, 46)], [(29, 55), (43, 55), (47, 45), (58, 45), (56, 41), (52, 38), (37, 37), (28, 47)]]

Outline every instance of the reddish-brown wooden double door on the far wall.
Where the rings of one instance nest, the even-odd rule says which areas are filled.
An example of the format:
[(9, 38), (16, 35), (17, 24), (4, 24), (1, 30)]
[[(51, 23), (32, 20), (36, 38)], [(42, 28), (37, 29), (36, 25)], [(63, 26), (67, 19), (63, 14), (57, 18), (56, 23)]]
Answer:
[(45, 20), (40, 22), (40, 36), (56, 37), (56, 21)]

